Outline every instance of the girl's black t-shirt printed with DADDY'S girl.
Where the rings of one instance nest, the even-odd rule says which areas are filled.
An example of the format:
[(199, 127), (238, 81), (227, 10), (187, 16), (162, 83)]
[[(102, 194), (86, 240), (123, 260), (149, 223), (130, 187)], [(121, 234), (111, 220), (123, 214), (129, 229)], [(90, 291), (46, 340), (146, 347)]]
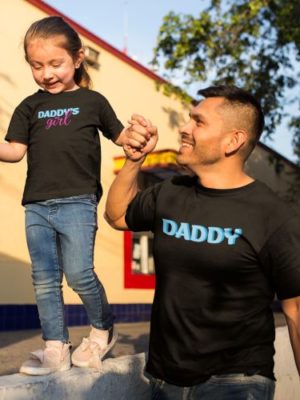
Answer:
[(6, 140), (28, 145), (22, 204), (95, 193), (101, 197), (101, 130), (115, 139), (123, 129), (107, 99), (89, 89), (50, 94), (39, 90), (16, 108)]

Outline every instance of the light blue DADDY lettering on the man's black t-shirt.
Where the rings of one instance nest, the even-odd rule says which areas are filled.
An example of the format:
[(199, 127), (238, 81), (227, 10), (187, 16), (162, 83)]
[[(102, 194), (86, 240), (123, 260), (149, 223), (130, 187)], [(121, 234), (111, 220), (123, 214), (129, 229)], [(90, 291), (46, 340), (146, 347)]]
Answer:
[(163, 219), (162, 222), (165, 235), (198, 243), (218, 244), (227, 241), (228, 245), (234, 245), (243, 232), (241, 228), (206, 227), (187, 222), (177, 223), (171, 219)]

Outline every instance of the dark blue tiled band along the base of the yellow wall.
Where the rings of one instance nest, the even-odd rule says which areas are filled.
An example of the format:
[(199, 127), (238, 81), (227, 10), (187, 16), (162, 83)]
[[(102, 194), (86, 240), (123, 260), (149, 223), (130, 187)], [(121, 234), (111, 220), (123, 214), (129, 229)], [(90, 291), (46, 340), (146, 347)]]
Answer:
[[(149, 321), (151, 304), (111, 304), (115, 322)], [(68, 326), (88, 325), (89, 321), (83, 305), (65, 306)], [(0, 305), (0, 331), (38, 329), (40, 321), (36, 305)]]

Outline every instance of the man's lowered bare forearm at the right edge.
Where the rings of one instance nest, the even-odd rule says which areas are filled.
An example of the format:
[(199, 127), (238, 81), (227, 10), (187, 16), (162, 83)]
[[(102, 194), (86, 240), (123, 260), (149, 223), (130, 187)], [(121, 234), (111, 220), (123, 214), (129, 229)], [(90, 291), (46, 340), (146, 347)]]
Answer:
[(281, 305), (289, 330), (296, 367), (300, 375), (300, 297), (283, 300)]

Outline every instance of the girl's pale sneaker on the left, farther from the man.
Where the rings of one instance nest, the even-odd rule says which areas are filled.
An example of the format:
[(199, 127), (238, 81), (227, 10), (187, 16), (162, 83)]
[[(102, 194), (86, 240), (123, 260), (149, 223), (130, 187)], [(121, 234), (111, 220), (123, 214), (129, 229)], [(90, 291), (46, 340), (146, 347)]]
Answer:
[(49, 340), (44, 350), (30, 353), (30, 358), (22, 364), (20, 372), (27, 375), (48, 375), (56, 371), (66, 371), (71, 368), (70, 348), (69, 343)]

